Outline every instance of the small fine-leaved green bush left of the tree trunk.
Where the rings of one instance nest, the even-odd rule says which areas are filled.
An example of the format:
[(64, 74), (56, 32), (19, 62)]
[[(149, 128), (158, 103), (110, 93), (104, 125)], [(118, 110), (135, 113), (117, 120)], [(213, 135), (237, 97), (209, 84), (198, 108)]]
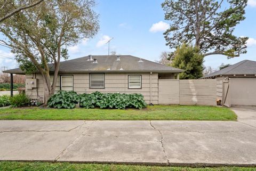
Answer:
[(25, 93), (16, 94), (10, 98), (12, 107), (25, 107), (29, 104), (30, 100)]

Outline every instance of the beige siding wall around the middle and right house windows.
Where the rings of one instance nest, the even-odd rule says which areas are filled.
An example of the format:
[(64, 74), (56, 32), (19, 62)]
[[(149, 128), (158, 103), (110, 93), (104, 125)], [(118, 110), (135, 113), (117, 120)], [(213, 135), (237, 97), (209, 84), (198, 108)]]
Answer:
[[(150, 103), (150, 74), (141, 73), (105, 73), (105, 88), (89, 88), (89, 74), (73, 74), (74, 75), (74, 91), (82, 93), (92, 93), (95, 91), (103, 93), (141, 93), (147, 103)], [(141, 75), (142, 88), (129, 89), (128, 76)], [(152, 102), (158, 104), (158, 74), (152, 74)]]

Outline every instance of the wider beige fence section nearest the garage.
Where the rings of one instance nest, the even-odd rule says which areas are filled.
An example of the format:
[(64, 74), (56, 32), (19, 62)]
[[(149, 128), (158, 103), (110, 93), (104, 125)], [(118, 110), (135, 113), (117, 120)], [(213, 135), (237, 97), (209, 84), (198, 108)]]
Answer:
[(215, 79), (180, 80), (181, 105), (216, 105)]

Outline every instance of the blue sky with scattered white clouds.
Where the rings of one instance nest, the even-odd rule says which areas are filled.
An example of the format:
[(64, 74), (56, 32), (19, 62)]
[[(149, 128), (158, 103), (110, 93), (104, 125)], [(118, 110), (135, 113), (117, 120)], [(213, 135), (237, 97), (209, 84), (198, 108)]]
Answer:
[[(114, 37), (110, 42), (110, 51), (117, 54), (130, 54), (151, 61), (159, 59), (163, 51), (170, 51), (165, 45), (163, 32), (168, 26), (164, 20), (164, 11), (161, 3), (164, 0), (144, 1), (118, 1), (118, 0), (95, 0), (97, 6), (95, 11), (100, 14), (100, 31), (89, 40), (82, 40), (73, 47), (68, 47), (69, 59), (92, 55), (107, 55), (107, 40)], [(256, 0), (249, 0), (246, 7), (246, 19), (235, 29), (236, 36), (247, 36), (247, 54), (241, 57), (227, 59), (222, 55), (206, 56), (205, 66), (217, 68), (221, 63), (234, 64), (248, 59), (256, 60)], [(0, 67), (7, 66), (8, 69), (18, 67), (9, 48), (0, 46)]]

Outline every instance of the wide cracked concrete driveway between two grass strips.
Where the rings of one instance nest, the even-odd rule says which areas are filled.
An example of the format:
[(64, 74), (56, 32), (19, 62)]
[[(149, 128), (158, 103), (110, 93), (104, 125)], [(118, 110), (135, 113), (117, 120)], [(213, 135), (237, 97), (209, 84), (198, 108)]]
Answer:
[(256, 165), (256, 108), (234, 111), (238, 121), (2, 120), (0, 160)]

